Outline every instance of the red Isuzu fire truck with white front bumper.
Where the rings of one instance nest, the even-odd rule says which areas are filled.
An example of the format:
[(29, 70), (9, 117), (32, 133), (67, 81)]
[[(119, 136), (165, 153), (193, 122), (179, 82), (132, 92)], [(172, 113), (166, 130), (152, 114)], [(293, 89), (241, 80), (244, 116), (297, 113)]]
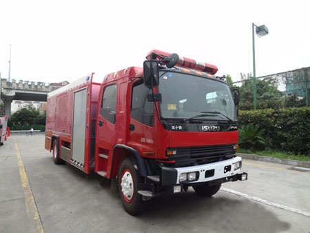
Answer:
[(69, 163), (118, 181), (125, 210), (194, 188), (212, 196), (222, 183), (247, 179), (236, 156), (234, 98), (215, 65), (159, 50), (143, 68), (94, 73), (48, 94), (45, 149)]

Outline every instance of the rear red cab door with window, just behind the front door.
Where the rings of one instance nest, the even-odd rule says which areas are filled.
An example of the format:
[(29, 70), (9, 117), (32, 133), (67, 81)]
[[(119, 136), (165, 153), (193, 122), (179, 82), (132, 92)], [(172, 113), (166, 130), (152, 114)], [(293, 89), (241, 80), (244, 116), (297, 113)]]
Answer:
[(116, 94), (117, 85), (112, 83), (105, 86), (101, 96), (101, 107), (97, 121), (97, 148), (95, 172), (102, 176), (110, 176), (113, 148), (116, 141)]

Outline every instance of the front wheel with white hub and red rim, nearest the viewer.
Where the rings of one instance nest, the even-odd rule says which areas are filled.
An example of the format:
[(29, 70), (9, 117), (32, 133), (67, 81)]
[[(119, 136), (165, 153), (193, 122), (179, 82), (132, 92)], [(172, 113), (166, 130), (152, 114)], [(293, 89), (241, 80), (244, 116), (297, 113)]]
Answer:
[(125, 158), (118, 170), (118, 190), (121, 196), (123, 207), (131, 215), (140, 214), (145, 210), (146, 203), (138, 194), (140, 177), (134, 169), (130, 158)]

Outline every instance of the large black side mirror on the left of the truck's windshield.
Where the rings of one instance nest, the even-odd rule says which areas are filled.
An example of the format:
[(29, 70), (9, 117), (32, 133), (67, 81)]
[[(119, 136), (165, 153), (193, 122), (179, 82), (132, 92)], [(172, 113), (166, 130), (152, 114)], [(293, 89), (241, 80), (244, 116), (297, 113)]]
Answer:
[(147, 88), (157, 87), (159, 83), (158, 64), (156, 61), (144, 61), (143, 63), (144, 85)]

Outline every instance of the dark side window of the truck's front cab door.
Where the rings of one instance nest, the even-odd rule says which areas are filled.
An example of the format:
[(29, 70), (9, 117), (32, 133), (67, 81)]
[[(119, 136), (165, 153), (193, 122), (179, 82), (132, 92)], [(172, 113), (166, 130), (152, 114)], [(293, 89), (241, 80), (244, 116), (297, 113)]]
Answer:
[(145, 87), (143, 82), (134, 84), (130, 115), (145, 125), (154, 126), (154, 103), (147, 101), (147, 94), (150, 92), (151, 90)]

